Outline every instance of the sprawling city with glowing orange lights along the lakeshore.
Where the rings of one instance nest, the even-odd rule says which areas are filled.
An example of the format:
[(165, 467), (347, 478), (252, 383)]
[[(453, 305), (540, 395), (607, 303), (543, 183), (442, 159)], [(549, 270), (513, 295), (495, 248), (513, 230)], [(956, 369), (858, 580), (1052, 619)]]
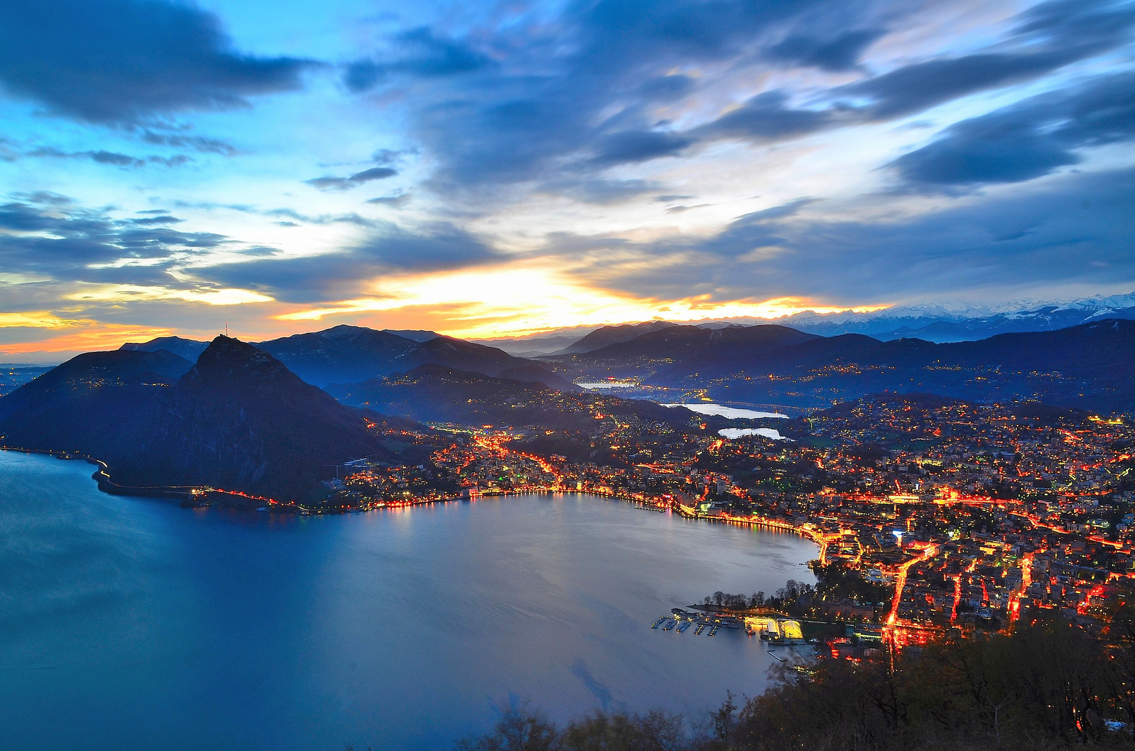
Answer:
[(884, 395), (788, 421), (796, 438), (773, 440), (592, 416), (603, 463), (555, 453), (580, 434), (449, 425), (404, 437), (452, 440), (435, 470), (347, 467), (310, 510), (582, 491), (791, 531), (819, 547), (817, 574), (856, 577), (868, 597), (804, 611), (898, 645), (1008, 631), (1029, 608), (1099, 632), (1135, 589), (1135, 429), (1120, 417)]

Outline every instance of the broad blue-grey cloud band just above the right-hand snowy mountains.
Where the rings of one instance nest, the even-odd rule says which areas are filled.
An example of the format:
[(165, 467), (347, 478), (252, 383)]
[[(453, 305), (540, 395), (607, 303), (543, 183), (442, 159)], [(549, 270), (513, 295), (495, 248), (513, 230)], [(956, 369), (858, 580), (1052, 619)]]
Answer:
[(1135, 285), (1135, 170), (1067, 175), (1043, 187), (878, 221), (830, 220), (800, 200), (705, 238), (556, 239), (549, 252), (608, 289), (676, 298), (812, 296), (833, 304), (993, 294), (1023, 285)]

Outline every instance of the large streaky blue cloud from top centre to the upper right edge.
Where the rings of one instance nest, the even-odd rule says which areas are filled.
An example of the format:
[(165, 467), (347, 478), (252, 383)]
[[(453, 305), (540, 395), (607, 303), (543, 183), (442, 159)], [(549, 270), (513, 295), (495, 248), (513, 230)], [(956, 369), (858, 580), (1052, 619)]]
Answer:
[[(882, 1), (597, 2), (570, 6), (554, 25), (466, 39), (403, 34), (386, 61), (354, 64), (344, 81), (352, 91), (413, 87), (412, 133), (439, 160), (435, 189), (535, 179), (580, 197), (581, 180), (612, 167), (690, 155), (723, 138), (764, 144), (890, 120), (1034, 79), (1125, 43), (1135, 24), (1130, 3), (1044, 2), (986, 49), (867, 75), (864, 51), (915, 10)], [(705, 94), (676, 70), (726, 60), (753, 75), (812, 67), (864, 76), (812, 93), (807, 107), (770, 88), (684, 130), (658, 121), (659, 108)]]

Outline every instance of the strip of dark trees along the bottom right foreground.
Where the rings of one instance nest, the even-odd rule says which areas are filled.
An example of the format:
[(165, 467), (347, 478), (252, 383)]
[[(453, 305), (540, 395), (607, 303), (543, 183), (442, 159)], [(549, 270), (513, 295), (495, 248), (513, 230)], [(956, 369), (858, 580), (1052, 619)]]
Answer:
[[(1056, 751), (1135, 749), (1135, 611), (1092, 634), (1026, 613), (1011, 635), (944, 641), (886, 659), (777, 665), (740, 711), (683, 718), (596, 712), (557, 727), (505, 712), (461, 751)], [(892, 659), (893, 658), (893, 659)], [(1121, 727), (1118, 723), (1127, 723)]]

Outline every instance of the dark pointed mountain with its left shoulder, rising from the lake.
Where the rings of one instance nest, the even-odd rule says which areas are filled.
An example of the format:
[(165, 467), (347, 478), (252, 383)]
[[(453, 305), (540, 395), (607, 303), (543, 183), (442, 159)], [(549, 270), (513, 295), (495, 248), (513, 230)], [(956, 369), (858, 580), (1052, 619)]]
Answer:
[(95, 456), (125, 486), (302, 499), (328, 465), (387, 456), (362, 412), (224, 336), (192, 368), (168, 352), (81, 355), (0, 399), (0, 414), (8, 445)]

